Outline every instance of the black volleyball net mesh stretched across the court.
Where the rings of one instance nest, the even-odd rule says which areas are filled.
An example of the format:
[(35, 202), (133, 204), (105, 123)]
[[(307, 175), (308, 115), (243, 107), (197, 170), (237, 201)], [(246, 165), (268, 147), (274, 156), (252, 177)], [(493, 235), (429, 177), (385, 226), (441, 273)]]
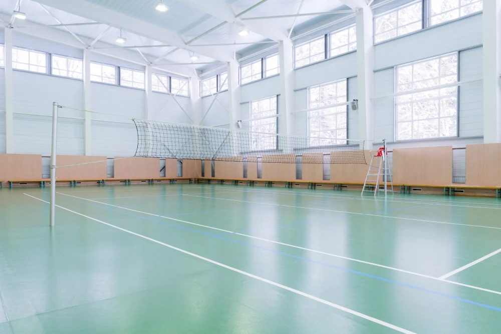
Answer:
[(184, 124), (134, 120), (136, 157), (322, 164), (331, 155), (334, 164), (366, 164), (364, 141), (285, 136), (207, 128)]

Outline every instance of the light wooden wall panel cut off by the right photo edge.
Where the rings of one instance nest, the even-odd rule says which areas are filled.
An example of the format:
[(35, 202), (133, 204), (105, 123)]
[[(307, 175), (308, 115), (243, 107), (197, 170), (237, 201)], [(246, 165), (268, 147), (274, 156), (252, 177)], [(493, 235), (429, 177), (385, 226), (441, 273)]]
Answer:
[(501, 187), (501, 144), (466, 145), (466, 185)]

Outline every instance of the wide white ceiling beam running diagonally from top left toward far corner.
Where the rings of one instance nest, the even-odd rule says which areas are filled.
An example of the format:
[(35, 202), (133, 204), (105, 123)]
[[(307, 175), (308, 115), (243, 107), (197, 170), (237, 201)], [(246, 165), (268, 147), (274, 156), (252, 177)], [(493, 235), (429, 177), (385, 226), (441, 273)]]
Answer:
[[(183, 39), (171, 30), (161, 28), (157, 25), (132, 18), (130, 16), (109, 10), (107, 8), (89, 3), (84, 0), (34, 0), (37, 3), (57, 8), (59, 10), (84, 17), (86, 19), (101, 22), (115, 28), (122, 28), (133, 34), (144, 36), (163, 44), (172, 45), (174, 47), (193, 51), (189, 46), (186, 46)], [(222, 50), (203, 49), (197, 53), (216, 59), (219, 61), (227, 61), (231, 58), (229, 52)]]

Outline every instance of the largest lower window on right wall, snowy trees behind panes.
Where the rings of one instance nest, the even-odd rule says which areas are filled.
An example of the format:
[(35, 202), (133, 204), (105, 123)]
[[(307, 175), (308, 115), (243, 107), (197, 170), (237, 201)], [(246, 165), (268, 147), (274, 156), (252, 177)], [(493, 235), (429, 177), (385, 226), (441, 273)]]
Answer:
[[(397, 67), (397, 92), (457, 82), (457, 53)], [(396, 139), (457, 135), (457, 87), (396, 98)]]

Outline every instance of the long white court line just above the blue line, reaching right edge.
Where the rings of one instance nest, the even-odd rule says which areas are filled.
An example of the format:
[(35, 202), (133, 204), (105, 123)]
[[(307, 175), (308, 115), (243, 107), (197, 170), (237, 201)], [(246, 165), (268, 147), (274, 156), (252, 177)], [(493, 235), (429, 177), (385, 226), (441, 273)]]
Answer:
[[(58, 193), (58, 194), (66, 195), (66, 194), (63, 194), (63, 193)], [(104, 203), (104, 202), (99, 202), (99, 201), (91, 200), (91, 199), (88, 199), (88, 198), (82, 198), (82, 197), (77, 197), (77, 196), (72, 196), (72, 195), (66, 195), (66, 196), (75, 197), (75, 198), (79, 198), (79, 199), (83, 199), (83, 200), (88, 200), (88, 201), (91, 201), (91, 202), (96, 202), (96, 203), (100, 203), (100, 204), (104, 204), (104, 205), (109, 205), (109, 206), (113, 206), (113, 207), (124, 209), (124, 210), (129, 210), (129, 211), (134, 211), (134, 212), (138, 212), (138, 213), (143, 213), (143, 214), (147, 214), (147, 215), (150, 215), (150, 216), (155, 216), (155, 217), (161, 217), (161, 218), (166, 218), (166, 219), (170, 219), (170, 220), (175, 220), (175, 221), (179, 221), (179, 222), (182, 222), (182, 223), (196, 225), (196, 226), (200, 226), (200, 227), (205, 227), (205, 228), (209, 228), (209, 229), (213, 229), (213, 230), (218, 230), (218, 231), (222, 231), (222, 232), (226, 232), (226, 233), (232, 233), (232, 234), (236, 234), (236, 235), (241, 235), (241, 236), (245, 236), (245, 237), (248, 237), (248, 238), (263, 240), (263, 241), (267, 241), (267, 242), (272, 242), (272, 243), (280, 244), (280, 245), (283, 245), (283, 246), (288, 246), (288, 247), (298, 248), (298, 249), (302, 249), (302, 250), (307, 250), (307, 251), (318, 253), (318, 254), (323, 254), (323, 255), (328, 255), (328, 256), (332, 256), (332, 257), (342, 258), (342, 259), (345, 259), (345, 260), (350, 260), (350, 261), (365, 263), (365, 264), (369, 264), (369, 265), (373, 265), (373, 266), (377, 266), (377, 267), (381, 267), (381, 268), (386, 268), (386, 269), (390, 269), (390, 270), (405, 272), (405, 273), (408, 273), (408, 274), (411, 274), (411, 275), (426, 277), (426, 278), (430, 278), (430, 279), (434, 279), (434, 280), (445, 281), (445, 282), (449, 282), (449, 283), (452, 283), (452, 284), (462, 285), (462, 286), (470, 287), (470, 288), (477, 289), (477, 290), (482, 290), (482, 291), (486, 291), (486, 292), (501, 294), (501, 292), (494, 291), (494, 290), (484, 289), (484, 288), (473, 286), (473, 285), (467, 285), (467, 284), (457, 283), (457, 282), (454, 282), (454, 281), (449, 281), (449, 280), (446, 280), (446, 279), (440, 279), (440, 278), (437, 278), (437, 277), (433, 277), (433, 276), (429, 276), (429, 275), (425, 275), (425, 274), (420, 274), (420, 273), (413, 272), (413, 271), (408, 271), (408, 270), (398, 269), (398, 268), (395, 268), (395, 267), (390, 267), (390, 266), (386, 266), (386, 265), (382, 265), (382, 264), (377, 264), (377, 263), (372, 263), (372, 262), (368, 262), (368, 261), (358, 260), (358, 259), (355, 259), (355, 258), (346, 257), (346, 256), (342, 256), (342, 255), (331, 254), (331, 253), (327, 253), (327, 252), (323, 252), (323, 251), (315, 250), (315, 249), (311, 249), (311, 248), (305, 248), (305, 247), (291, 245), (291, 244), (288, 244), (288, 243), (283, 243), (283, 242), (279, 242), (279, 241), (275, 241), (275, 240), (260, 238), (260, 237), (249, 235), (249, 234), (235, 233), (233, 231), (228, 231), (228, 230), (224, 230), (224, 229), (217, 228), (217, 227), (212, 227), (212, 226), (207, 226), (207, 225), (192, 223), (192, 222), (189, 222), (189, 221), (175, 219), (175, 218), (171, 218), (171, 217), (165, 217), (165, 216), (157, 215), (157, 214), (154, 214), (154, 213), (149, 213), (149, 212), (144, 212), (144, 211), (129, 209), (129, 208), (126, 208), (126, 207), (123, 207), (123, 206), (118, 206), (118, 205), (114, 205), (114, 204), (108, 204), (108, 203)]]

